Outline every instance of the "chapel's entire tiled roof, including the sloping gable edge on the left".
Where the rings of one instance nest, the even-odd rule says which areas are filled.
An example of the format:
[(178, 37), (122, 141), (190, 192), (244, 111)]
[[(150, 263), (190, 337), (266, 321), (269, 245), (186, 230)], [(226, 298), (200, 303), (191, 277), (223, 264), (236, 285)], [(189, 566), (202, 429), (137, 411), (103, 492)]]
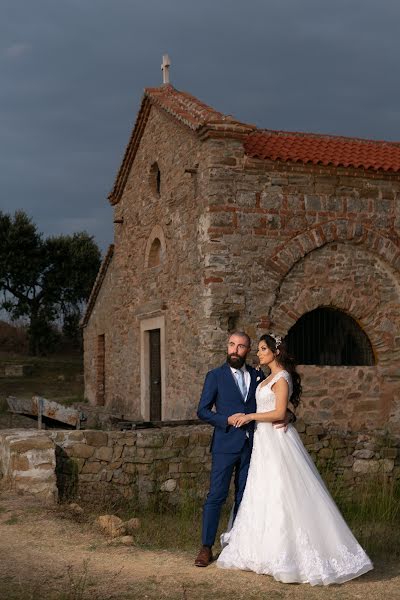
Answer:
[(231, 115), (224, 115), (187, 92), (180, 92), (166, 84), (145, 89), (135, 127), (109, 195), (111, 204), (116, 204), (121, 199), (152, 105), (195, 131), (202, 140), (208, 137), (242, 140), (245, 153), (253, 158), (361, 167), (374, 171), (400, 171), (400, 143), (257, 130), (254, 125), (237, 121)]

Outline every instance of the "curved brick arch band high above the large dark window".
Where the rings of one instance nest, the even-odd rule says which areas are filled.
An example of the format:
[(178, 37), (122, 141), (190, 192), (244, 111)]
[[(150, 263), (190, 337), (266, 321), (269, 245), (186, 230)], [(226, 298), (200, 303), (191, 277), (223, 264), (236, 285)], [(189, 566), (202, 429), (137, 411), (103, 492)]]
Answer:
[[(307, 254), (331, 242), (353, 242), (364, 246), (395, 271), (400, 271), (400, 241), (397, 243), (381, 233), (351, 219), (318, 223), (280, 246), (268, 260), (270, 275), (281, 280)], [(272, 270), (272, 273), (271, 273)]]

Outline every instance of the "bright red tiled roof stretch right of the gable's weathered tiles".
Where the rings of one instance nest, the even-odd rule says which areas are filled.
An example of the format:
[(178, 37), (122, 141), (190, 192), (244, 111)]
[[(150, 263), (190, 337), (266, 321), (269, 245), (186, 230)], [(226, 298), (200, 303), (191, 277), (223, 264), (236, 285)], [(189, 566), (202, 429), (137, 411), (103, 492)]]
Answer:
[(400, 144), (396, 142), (259, 130), (247, 136), (244, 149), (253, 158), (400, 171)]

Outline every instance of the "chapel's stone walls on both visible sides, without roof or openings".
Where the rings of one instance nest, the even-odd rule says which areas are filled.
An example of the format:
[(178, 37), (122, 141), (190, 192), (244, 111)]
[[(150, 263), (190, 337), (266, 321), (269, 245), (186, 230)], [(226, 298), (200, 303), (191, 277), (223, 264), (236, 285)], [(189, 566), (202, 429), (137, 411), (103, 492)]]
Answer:
[[(242, 140), (202, 142), (153, 106), (115, 205), (114, 257), (85, 330), (87, 397), (95, 402), (96, 338), (105, 334), (106, 406), (148, 418), (140, 324), (162, 316), (163, 418), (191, 419), (229, 330), (245, 329), (255, 342), (331, 306), (366, 332), (376, 368), (326, 367), (326, 385), (315, 385), (315, 371), (314, 387), (304, 386), (308, 422), (399, 434), (399, 198), (396, 174), (253, 159)], [(146, 247), (160, 230), (162, 263), (149, 268)], [(335, 378), (346, 394), (340, 409)], [(325, 407), (312, 414), (313, 402)]]

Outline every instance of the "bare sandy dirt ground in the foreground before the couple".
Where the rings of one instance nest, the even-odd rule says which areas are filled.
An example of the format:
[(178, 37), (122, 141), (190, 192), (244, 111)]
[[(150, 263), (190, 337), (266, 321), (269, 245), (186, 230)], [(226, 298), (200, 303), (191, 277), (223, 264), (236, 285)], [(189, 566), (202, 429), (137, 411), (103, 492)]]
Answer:
[(0, 494), (1, 600), (317, 600), (400, 597), (400, 565), (341, 586), (285, 585), (250, 572), (193, 566), (187, 553), (110, 543), (90, 521), (28, 496)]

